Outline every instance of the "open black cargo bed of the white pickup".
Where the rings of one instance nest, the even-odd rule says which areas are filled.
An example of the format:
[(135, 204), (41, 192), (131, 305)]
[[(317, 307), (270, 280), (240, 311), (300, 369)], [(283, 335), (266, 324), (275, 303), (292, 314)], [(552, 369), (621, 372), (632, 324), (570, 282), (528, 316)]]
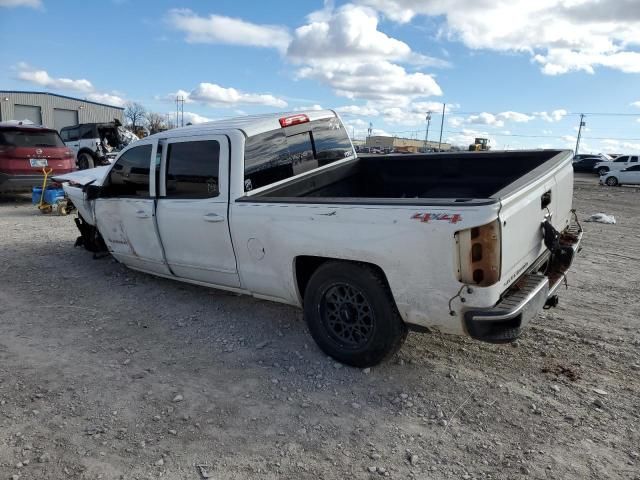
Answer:
[(565, 159), (562, 150), (363, 155), (240, 200), (493, 203)]

